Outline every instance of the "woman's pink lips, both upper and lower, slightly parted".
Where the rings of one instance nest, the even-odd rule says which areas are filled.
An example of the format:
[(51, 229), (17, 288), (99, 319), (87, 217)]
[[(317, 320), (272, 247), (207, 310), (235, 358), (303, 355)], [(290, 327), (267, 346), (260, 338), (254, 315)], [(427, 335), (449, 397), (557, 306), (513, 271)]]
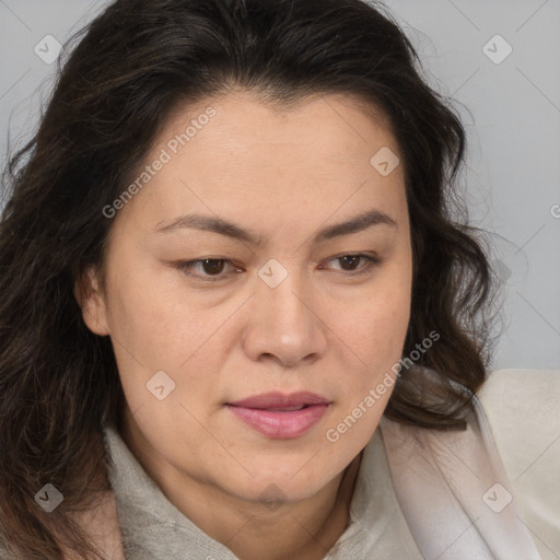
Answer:
[[(315, 425), (329, 406), (329, 401), (314, 393), (267, 393), (235, 402), (228, 408), (258, 432), (273, 439), (302, 435)], [(281, 410), (305, 406), (301, 410)]]

